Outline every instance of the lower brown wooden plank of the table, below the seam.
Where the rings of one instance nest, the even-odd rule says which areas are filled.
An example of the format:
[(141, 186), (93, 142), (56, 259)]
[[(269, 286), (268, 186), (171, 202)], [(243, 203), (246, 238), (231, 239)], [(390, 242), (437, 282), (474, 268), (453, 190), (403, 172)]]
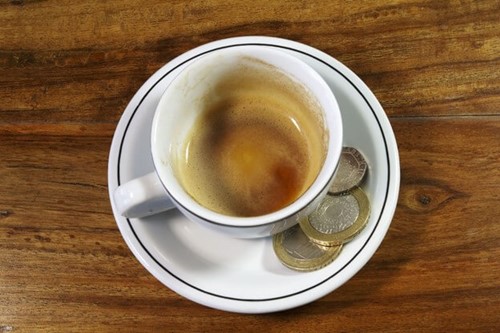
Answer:
[(243, 317), (181, 298), (133, 258), (108, 203), (108, 139), (3, 136), (0, 324), (80, 332), (123, 329), (125, 322), (146, 330), (231, 330), (234, 320), (242, 329), (272, 323), (271, 332), (494, 330), (500, 118), (392, 123), (402, 187), (374, 258), (315, 303)]

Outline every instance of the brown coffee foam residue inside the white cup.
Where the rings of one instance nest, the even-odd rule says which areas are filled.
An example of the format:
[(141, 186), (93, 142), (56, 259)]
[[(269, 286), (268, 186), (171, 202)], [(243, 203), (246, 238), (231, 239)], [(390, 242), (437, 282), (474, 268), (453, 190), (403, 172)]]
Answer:
[(325, 158), (318, 103), (276, 68), (247, 58), (204, 96), (177, 174), (201, 205), (256, 216), (292, 203)]

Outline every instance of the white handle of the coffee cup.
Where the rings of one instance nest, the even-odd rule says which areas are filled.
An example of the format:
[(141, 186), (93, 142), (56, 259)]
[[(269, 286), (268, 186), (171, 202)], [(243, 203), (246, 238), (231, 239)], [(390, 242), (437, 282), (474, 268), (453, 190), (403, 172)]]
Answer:
[(113, 198), (118, 213), (127, 218), (146, 217), (175, 208), (156, 172), (118, 186)]

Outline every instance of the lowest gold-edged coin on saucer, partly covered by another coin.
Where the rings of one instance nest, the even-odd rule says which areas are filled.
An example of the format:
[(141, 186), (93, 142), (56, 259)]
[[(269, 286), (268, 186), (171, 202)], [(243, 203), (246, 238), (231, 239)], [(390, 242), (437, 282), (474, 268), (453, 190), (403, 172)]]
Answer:
[(273, 248), (281, 263), (296, 271), (314, 271), (331, 263), (342, 245), (325, 247), (312, 242), (297, 224), (273, 236)]

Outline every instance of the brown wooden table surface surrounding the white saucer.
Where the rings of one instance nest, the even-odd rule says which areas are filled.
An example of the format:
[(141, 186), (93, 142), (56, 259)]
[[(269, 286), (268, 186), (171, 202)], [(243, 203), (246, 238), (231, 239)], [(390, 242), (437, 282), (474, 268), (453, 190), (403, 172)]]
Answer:
[[(498, 1), (0, 2), (0, 332), (498, 332)], [(226, 313), (164, 287), (113, 218), (116, 124), (158, 68), (268, 35), (357, 73), (394, 128), (401, 191), (369, 263), (290, 311)]]

